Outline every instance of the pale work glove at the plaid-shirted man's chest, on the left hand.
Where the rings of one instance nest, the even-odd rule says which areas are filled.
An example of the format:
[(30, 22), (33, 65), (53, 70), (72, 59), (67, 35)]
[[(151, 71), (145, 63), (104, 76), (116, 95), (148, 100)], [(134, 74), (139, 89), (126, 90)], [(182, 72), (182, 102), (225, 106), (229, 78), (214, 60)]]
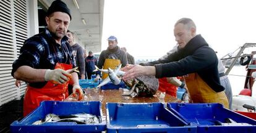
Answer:
[(50, 81), (54, 84), (64, 84), (72, 78), (70, 73), (62, 69), (46, 70), (45, 81)]

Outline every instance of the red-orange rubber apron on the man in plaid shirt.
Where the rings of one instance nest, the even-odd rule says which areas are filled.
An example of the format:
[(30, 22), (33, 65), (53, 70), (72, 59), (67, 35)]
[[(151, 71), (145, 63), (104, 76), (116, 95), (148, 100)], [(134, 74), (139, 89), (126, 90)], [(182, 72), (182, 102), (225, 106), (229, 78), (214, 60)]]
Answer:
[[(56, 63), (54, 69), (61, 68), (63, 70), (72, 69), (72, 65), (65, 63)], [(23, 116), (27, 116), (36, 107), (39, 107), (40, 102), (43, 100), (64, 100), (69, 96), (67, 85), (69, 82), (64, 84), (53, 84), (47, 82), (42, 88), (35, 88), (27, 86), (27, 90), (23, 102)]]

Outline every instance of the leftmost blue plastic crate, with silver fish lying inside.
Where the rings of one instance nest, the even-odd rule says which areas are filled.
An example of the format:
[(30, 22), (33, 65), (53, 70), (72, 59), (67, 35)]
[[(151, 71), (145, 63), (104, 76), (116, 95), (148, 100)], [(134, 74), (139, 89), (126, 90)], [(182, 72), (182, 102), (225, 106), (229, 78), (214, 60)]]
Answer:
[[(45, 119), (49, 113), (59, 116), (69, 116), (77, 113), (88, 113), (99, 118), (98, 124), (77, 124), (75, 122), (49, 122), (33, 125), (35, 121)], [(11, 124), (11, 132), (101, 132), (106, 130), (106, 121), (103, 119), (101, 103), (92, 102), (59, 102), (44, 101), (40, 107), (20, 121)]]

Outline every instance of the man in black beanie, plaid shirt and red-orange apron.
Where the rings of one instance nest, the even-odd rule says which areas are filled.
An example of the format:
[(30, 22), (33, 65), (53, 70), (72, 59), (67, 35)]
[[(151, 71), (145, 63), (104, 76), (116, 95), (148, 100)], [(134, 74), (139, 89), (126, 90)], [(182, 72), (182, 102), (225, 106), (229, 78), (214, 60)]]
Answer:
[(70, 10), (64, 2), (54, 1), (45, 20), (45, 31), (28, 38), (20, 49), (19, 58), (12, 64), (12, 76), (28, 83), (23, 116), (43, 100), (66, 99), (69, 83), (73, 83), (73, 93), (78, 92), (78, 100), (83, 97), (77, 73), (70, 70), (75, 67), (66, 36), (71, 20)]

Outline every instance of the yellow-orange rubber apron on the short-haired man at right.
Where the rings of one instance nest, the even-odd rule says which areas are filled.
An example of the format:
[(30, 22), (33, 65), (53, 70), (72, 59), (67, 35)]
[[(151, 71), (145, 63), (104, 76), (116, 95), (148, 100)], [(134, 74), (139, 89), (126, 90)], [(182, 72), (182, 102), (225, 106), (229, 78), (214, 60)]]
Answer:
[(193, 103), (221, 103), (225, 108), (229, 107), (224, 91), (213, 91), (197, 73), (191, 73), (185, 79)]

